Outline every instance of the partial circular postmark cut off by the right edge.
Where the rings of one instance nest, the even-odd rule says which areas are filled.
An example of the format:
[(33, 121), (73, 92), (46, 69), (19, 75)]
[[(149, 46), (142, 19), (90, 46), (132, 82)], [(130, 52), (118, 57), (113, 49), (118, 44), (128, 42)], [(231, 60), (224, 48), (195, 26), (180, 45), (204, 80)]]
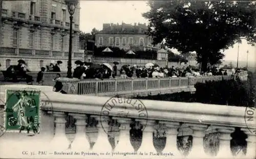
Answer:
[(244, 113), (244, 120), (247, 129), (251, 134), (256, 135), (256, 114), (255, 114), (256, 105), (254, 107), (246, 107)]

